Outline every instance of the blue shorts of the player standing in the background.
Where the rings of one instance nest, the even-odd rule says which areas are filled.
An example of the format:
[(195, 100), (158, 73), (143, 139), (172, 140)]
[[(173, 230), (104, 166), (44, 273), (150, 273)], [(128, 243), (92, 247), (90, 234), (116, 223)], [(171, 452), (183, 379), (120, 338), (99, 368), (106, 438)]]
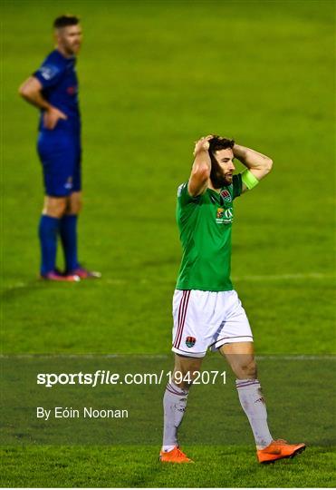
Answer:
[(37, 152), (43, 165), (46, 195), (66, 197), (81, 191), (81, 141), (65, 132), (39, 133)]

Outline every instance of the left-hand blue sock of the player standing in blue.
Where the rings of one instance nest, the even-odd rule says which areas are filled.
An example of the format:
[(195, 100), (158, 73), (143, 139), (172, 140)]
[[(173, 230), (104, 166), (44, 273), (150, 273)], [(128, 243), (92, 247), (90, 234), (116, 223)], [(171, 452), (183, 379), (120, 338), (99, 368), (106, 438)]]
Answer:
[(41, 244), (41, 274), (45, 275), (55, 269), (57, 234), (60, 220), (43, 214), (40, 220), (39, 237)]

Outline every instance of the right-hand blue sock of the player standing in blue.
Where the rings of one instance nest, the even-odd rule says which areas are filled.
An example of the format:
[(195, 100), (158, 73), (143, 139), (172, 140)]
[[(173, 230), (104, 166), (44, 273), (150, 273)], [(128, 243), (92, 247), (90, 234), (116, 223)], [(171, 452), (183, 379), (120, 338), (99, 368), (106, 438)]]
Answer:
[(77, 259), (77, 214), (66, 214), (61, 219), (60, 235), (68, 272), (79, 267)]

